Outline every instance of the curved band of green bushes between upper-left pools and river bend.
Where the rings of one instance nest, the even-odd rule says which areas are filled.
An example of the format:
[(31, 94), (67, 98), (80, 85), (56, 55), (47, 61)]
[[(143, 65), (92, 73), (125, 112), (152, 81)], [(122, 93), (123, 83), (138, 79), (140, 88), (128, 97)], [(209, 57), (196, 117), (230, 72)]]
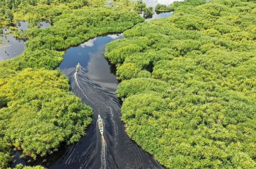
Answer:
[(77, 9), (71, 14), (63, 14), (55, 18), (51, 27), (28, 29), (29, 41), (24, 53), (0, 62), (0, 74), (6, 76), (6, 69), (16, 71), (27, 67), (54, 69), (64, 55), (60, 50), (100, 34), (122, 32), (143, 21), (144, 18), (135, 12), (108, 7)]

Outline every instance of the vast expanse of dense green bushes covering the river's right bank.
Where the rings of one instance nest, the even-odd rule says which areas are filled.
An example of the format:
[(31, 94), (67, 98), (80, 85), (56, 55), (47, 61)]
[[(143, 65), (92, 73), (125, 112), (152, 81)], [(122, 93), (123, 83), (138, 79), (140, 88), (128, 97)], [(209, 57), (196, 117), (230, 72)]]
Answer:
[(181, 6), (107, 44), (129, 137), (166, 168), (256, 168), (256, 3)]

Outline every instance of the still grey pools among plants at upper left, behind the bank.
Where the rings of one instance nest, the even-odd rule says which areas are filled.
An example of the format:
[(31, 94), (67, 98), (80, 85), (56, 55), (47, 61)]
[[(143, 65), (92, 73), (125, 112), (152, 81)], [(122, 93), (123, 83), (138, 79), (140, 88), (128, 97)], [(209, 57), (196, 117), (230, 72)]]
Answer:
[[(41, 28), (47, 28), (49, 27), (51, 24), (41, 21), (40, 22), (40, 26)], [(28, 22), (19, 22), (16, 24), (18, 30), (20, 31), (21, 29), (26, 30), (28, 29)], [(3, 29), (3, 33), (4, 34), (9, 34), (9, 30), (8, 29)], [(24, 51), (24, 47), (25, 47), (25, 40), (18, 40), (15, 37), (13, 37), (13, 34), (9, 34), (6, 36), (4, 36), (4, 34), (0, 34), (1, 39), (3, 39), (2, 43), (0, 44), (0, 61), (1, 60), (7, 60), (7, 59), (11, 59), (14, 58), (15, 56), (20, 55), (21, 53), (23, 53)]]

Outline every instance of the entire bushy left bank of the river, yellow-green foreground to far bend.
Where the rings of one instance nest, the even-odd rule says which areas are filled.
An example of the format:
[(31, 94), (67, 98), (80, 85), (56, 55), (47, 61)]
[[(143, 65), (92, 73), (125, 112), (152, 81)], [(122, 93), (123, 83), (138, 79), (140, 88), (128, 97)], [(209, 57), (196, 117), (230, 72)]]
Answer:
[(54, 69), (68, 47), (143, 21), (125, 7), (83, 6), (55, 15), (53, 26), (27, 30), (24, 53), (0, 62), (0, 168), (10, 164), (14, 147), (35, 159), (85, 135), (92, 109), (70, 93), (68, 78)]

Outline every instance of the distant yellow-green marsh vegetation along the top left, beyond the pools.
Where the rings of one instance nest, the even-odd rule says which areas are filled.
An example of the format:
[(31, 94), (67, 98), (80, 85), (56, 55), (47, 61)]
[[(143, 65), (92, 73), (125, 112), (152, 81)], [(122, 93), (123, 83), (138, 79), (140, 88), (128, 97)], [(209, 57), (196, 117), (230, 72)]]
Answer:
[[(54, 18), (61, 14), (72, 13), (76, 9), (84, 7), (100, 7), (106, 3), (104, 0), (0, 0), (0, 27), (9, 27), (16, 21), (29, 21), (38, 23), (40, 20), (48, 20), (53, 23)], [(128, 0), (114, 1), (118, 9), (133, 9), (133, 2)], [(13, 14), (11, 17), (5, 15), (6, 11)], [(9, 16), (9, 17), (8, 17)], [(8, 19), (9, 18), (9, 19)], [(30, 24), (30, 28), (34, 26)]]

